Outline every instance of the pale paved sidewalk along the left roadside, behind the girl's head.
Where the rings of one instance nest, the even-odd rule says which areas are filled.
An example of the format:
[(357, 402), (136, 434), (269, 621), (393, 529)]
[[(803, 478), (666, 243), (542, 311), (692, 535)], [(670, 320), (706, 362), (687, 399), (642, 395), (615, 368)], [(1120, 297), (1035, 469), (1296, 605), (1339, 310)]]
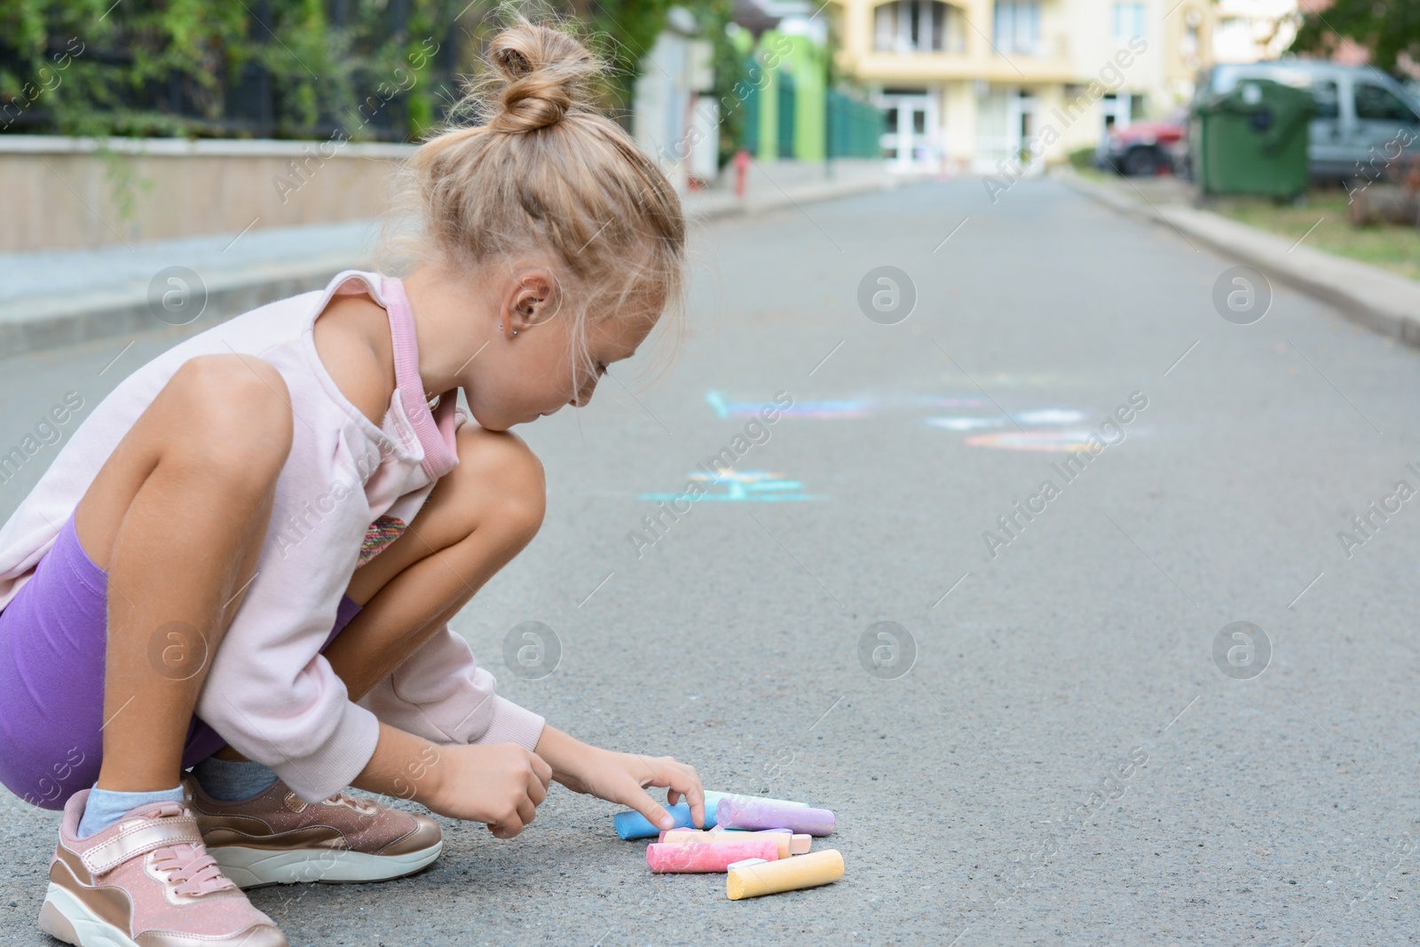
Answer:
[[(744, 199), (726, 187), (684, 196), (692, 221), (755, 214), (895, 186), (876, 162), (750, 169)], [(733, 170), (730, 172), (733, 175)], [(733, 177), (727, 177), (727, 182)], [(183, 291), (162, 271), (186, 267), (202, 318), (192, 331), (266, 302), (324, 287), (348, 268), (372, 266), (378, 221), (273, 227), (240, 234), (112, 244), (92, 250), (0, 254), (0, 356), (36, 352), (163, 325), (165, 292)], [(180, 277), (180, 274), (179, 274)], [(187, 283), (192, 283), (187, 278)]]

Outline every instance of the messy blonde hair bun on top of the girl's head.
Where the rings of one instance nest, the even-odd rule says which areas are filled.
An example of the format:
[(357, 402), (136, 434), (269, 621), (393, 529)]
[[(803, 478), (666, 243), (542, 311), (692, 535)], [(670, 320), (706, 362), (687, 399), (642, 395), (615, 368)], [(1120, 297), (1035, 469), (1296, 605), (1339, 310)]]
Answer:
[(588, 82), (601, 70), (575, 37), (531, 23), (496, 35), (488, 58), (504, 82), (503, 109), (488, 128), (510, 133), (535, 132), (579, 111)]

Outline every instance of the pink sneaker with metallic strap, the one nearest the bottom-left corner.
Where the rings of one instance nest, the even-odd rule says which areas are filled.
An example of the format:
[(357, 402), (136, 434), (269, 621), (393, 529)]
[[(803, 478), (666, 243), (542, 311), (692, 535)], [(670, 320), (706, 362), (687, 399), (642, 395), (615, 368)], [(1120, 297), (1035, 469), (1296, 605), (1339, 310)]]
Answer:
[(64, 806), (40, 930), (81, 947), (287, 947), (222, 875), (186, 806), (141, 805), (81, 839), (88, 794)]

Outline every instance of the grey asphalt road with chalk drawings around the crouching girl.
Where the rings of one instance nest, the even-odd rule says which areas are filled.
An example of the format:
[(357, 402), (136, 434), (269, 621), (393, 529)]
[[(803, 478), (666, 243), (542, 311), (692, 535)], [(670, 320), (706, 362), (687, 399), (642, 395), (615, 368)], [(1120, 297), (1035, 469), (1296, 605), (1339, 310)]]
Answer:
[[(1386, 500), (1420, 488), (1417, 352), (1282, 285), (1225, 321), (1233, 261), (1048, 180), (805, 204), (696, 254), (674, 368), (523, 432), (547, 522), (456, 628), (585, 740), (834, 809), (845, 877), (728, 902), (558, 788), (514, 842), (446, 822), (419, 877), (254, 892), (293, 944), (1420, 940), (1420, 500)], [(906, 297), (859, 305), (880, 266), (916, 292), (892, 325)], [(121, 345), (0, 365), (0, 449), (163, 341), (98, 376)], [(1363, 535), (1372, 501), (1399, 510)], [(530, 620), (561, 646), (535, 680), (503, 659)], [(0, 943), (53, 943), (55, 819), (3, 805)]]

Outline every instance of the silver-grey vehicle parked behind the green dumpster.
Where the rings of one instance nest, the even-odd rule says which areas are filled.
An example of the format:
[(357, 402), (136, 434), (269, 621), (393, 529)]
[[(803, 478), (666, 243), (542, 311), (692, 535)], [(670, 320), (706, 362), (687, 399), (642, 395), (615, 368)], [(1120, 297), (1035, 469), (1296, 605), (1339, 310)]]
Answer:
[(1198, 75), (1194, 104), (1245, 80), (1272, 80), (1312, 94), (1316, 114), (1306, 148), (1312, 177), (1377, 177), (1402, 152), (1420, 155), (1420, 102), (1380, 70), (1305, 60), (1220, 64)]

